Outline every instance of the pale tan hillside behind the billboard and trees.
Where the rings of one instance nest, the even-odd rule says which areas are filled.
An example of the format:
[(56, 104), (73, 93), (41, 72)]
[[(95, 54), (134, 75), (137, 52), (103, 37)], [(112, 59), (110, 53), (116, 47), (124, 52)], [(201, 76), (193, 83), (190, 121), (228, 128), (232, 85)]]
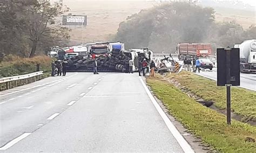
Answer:
[[(91, 0), (63, 0), (71, 10), (72, 15), (87, 15), (88, 25), (84, 27), (84, 41), (109, 40), (116, 34), (119, 23), (126, 20), (128, 16), (138, 13), (142, 9), (149, 9), (159, 5), (157, 2), (140, 1), (91, 1)], [(255, 14), (251, 11), (235, 9), (215, 9), (216, 22), (231, 22), (235, 20), (244, 29), (255, 24)], [(82, 28), (70, 27), (72, 29), (71, 44), (82, 43)]]

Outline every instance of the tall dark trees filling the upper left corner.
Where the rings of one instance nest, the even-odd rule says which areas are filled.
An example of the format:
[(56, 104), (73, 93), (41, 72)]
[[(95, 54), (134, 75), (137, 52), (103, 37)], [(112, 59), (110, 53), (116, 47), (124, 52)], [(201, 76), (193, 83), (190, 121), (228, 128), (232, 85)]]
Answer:
[(49, 1), (0, 2), (0, 56), (34, 57), (69, 40), (69, 29), (56, 22), (69, 8)]

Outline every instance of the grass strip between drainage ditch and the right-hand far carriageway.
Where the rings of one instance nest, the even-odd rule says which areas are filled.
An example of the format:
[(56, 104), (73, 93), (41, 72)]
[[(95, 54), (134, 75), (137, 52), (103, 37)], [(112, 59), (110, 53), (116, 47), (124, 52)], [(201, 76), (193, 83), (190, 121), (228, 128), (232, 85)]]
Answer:
[[(181, 86), (204, 100), (214, 101), (218, 108), (226, 108), (226, 87), (217, 87), (215, 81), (187, 72), (171, 74), (168, 77), (177, 80)], [(244, 120), (256, 121), (256, 92), (232, 87), (231, 94), (232, 111), (244, 116)]]

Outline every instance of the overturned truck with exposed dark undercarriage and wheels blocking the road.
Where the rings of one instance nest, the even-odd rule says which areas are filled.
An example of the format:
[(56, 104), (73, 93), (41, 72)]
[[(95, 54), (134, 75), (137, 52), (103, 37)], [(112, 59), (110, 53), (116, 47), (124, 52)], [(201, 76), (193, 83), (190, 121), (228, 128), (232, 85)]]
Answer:
[[(103, 46), (97, 46), (103, 47)], [(96, 46), (92, 48), (97, 48)], [(148, 48), (131, 49), (129, 51), (122, 48), (112, 48), (109, 52), (96, 52), (93, 50), (87, 58), (81, 55), (72, 57), (63, 61), (63, 65), (67, 67), (69, 72), (92, 72), (93, 62), (97, 60), (99, 72), (128, 72), (129, 60), (133, 60), (133, 71), (138, 71), (139, 61), (146, 59), (150, 64), (153, 57), (153, 52)]]

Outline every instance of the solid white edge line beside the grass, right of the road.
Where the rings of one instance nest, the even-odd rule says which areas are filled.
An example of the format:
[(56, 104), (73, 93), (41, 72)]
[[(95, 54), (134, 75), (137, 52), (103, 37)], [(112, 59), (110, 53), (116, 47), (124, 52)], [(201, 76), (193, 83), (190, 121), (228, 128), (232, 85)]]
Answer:
[(179, 143), (180, 147), (183, 149), (184, 152), (194, 152), (194, 150), (191, 148), (191, 145), (188, 144), (188, 142), (185, 140), (185, 138), (179, 133), (177, 128), (173, 125), (173, 123), (170, 121), (169, 117), (164, 113), (164, 110), (161, 109), (156, 99), (154, 99), (153, 95), (151, 94), (149, 88), (147, 88), (145, 82), (142, 78), (139, 78), (140, 82), (142, 82), (143, 87), (145, 88), (145, 91), (147, 95), (149, 95), (150, 100), (152, 101), (154, 107), (156, 107), (158, 113), (164, 120), (167, 128), (170, 130), (174, 138), (176, 138), (177, 142)]

